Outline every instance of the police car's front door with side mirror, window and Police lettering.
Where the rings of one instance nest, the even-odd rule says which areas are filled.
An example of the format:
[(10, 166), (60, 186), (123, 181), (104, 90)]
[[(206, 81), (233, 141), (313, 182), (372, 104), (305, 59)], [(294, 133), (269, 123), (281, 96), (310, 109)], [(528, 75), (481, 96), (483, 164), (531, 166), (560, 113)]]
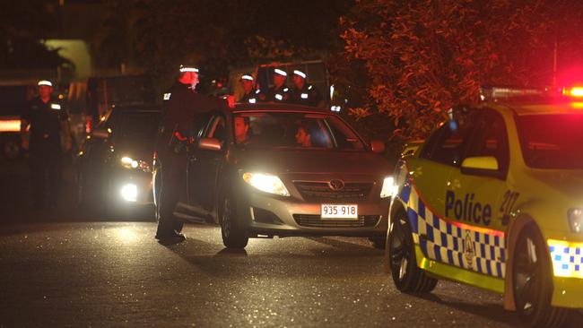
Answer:
[[(507, 186), (509, 142), (500, 113), (477, 109), (470, 142), (446, 189), (448, 219), (457, 222), (457, 252), (463, 266), (495, 278), (505, 271), (505, 203), (516, 200)], [(497, 167), (497, 168), (496, 168)], [(462, 264), (462, 263), (460, 263)]]

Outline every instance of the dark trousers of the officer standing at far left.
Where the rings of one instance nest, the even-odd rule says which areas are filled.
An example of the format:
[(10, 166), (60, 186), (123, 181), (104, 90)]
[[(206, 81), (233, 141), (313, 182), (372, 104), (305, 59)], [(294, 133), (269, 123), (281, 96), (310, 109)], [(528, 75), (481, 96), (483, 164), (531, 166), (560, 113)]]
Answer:
[(57, 206), (61, 180), (59, 150), (30, 150), (29, 168), (32, 200), (37, 207)]

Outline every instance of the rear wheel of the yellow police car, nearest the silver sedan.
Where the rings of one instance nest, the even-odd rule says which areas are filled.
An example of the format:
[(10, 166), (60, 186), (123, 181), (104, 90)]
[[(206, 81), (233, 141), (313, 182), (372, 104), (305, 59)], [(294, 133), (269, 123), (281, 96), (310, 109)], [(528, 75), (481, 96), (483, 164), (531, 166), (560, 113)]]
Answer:
[(388, 261), (396, 289), (405, 293), (428, 293), (437, 285), (417, 266), (413, 235), (405, 213), (392, 220), (388, 232)]

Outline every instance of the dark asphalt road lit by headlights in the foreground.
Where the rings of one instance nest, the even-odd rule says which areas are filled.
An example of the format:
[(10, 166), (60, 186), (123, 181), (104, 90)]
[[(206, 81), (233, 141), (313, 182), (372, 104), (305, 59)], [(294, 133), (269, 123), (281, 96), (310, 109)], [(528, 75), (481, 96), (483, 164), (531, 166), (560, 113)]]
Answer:
[(400, 293), (364, 239), (251, 239), (233, 252), (218, 228), (188, 224), (185, 242), (162, 246), (148, 216), (79, 211), (71, 181), (57, 210), (30, 210), (22, 165), (0, 168), (0, 327), (519, 324), (482, 289)]

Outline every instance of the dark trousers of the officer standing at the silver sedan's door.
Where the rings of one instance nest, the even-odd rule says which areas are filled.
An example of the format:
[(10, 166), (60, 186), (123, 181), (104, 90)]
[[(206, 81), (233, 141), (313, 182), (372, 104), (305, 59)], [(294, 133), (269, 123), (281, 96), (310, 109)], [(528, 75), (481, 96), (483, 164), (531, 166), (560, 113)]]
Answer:
[(187, 158), (170, 152), (157, 160), (161, 164), (161, 189), (156, 236), (163, 237), (182, 229), (182, 221), (174, 216), (174, 210), (180, 194), (187, 188)]

